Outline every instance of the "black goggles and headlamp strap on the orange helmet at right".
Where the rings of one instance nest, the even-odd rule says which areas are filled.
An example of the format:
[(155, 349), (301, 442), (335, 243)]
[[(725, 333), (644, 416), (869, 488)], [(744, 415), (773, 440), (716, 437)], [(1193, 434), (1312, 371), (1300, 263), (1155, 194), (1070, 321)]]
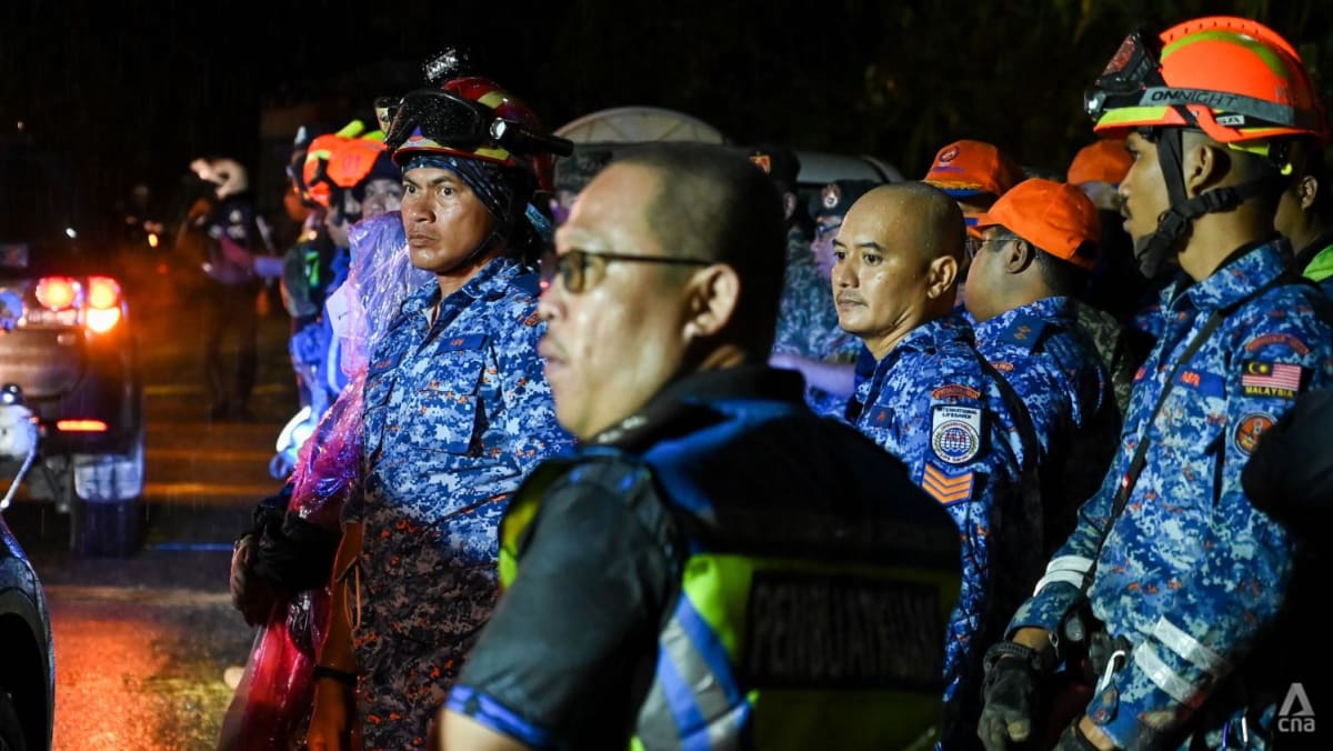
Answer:
[(1166, 85), (1161, 73), (1161, 44), (1144, 29), (1134, 29), (1120, 43), (1097, 83), (1084, 93), (1084, 111), (1093, 121), (1112, 109), (1125, 107), (1174, 107), (1186, 123), (1196, 125), (1194, 115), (1185, 108), (1186, 104), (1208, 107), (1214, 112), (1213, 119), (1218, 125), (1230, 128), (1320, 127), (1317, 112), (1224, 91)]

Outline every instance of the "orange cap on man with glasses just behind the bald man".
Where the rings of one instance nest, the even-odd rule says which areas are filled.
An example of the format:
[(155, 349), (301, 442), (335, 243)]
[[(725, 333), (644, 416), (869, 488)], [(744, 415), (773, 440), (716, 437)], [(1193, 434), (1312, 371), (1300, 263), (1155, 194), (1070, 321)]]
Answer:
[(1018, 183), (977, 219), (978, 229), (997, 224), (1057, 259), (1082, 268), (1097, 263), (1097, 207), (1068, 183), (1040, 177)]

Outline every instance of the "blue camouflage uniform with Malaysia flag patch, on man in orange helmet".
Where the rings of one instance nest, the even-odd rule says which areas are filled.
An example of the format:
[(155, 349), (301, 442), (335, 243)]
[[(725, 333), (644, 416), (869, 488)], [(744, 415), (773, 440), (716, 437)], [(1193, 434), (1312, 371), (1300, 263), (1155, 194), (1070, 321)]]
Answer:
[[(1146, 424), (1204, 321), (1282, 268), (1281, 245), (1260, 245), (1170, 300), (1165, 332), (1140, 369), (1110, 472), (1080, 511), (1037, 594), (1010, 623), (1010, 630), (1053, 631), (1074, 607), (1096, 558), (1088, 595), (1093, 615), (1133, 650), (1094, 695), (1088, 716), (1120, 747), (1158, 747), (1154, 734), (1189, 719), (1284, 604), (1292, 540), (1250, 506), (1241, 470), (1258, 435), (1297, 392), (1333, 384), (1333, 327), (1320, 312), (1322, 295), (1305, 284), (1282, 285), (1233, 311), (1182, 364), (1161, 414)], [(1144, 435), (1152, 440), (1146, 464), (1098, 554), (1113, 496)], [(1228, 696), (1220, 702), (1221, 714), (1241, 707)], [(1209, 747), (1217, 747), (1221, 722), (1205, 722)], [(1258, 739), (1253, 724), (1249, 736)]]

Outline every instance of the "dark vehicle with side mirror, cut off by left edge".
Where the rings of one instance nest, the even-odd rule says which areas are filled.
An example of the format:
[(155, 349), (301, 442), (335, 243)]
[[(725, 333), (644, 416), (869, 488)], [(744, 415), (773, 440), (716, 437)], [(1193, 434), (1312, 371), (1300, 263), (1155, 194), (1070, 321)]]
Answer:
[[(19, 463), (16, 480), (37, 452), (32, 412), (19, 388), (0, 391), (0, 459)], [(0, 751), (51, 748), (56, 663), (51, 616), (37, 574), (4, 522), (12, 492), (0, 496)]]

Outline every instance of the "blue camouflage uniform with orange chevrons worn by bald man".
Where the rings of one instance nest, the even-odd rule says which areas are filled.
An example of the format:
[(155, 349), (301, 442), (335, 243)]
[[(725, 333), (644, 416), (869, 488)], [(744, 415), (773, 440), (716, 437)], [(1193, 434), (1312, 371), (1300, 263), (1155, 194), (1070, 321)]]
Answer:
[[(976, 740), (981, 658), (1041, 572), (1036, 438), (1017, 394), (985, 365), (961, 316), (921, 324), (874, 365), (848, 416), (942, 503), (961, 531), (962, 588), (945, 643), (945, 700)], [(1026, 436), (1026, 438), (1024, 438)]]

